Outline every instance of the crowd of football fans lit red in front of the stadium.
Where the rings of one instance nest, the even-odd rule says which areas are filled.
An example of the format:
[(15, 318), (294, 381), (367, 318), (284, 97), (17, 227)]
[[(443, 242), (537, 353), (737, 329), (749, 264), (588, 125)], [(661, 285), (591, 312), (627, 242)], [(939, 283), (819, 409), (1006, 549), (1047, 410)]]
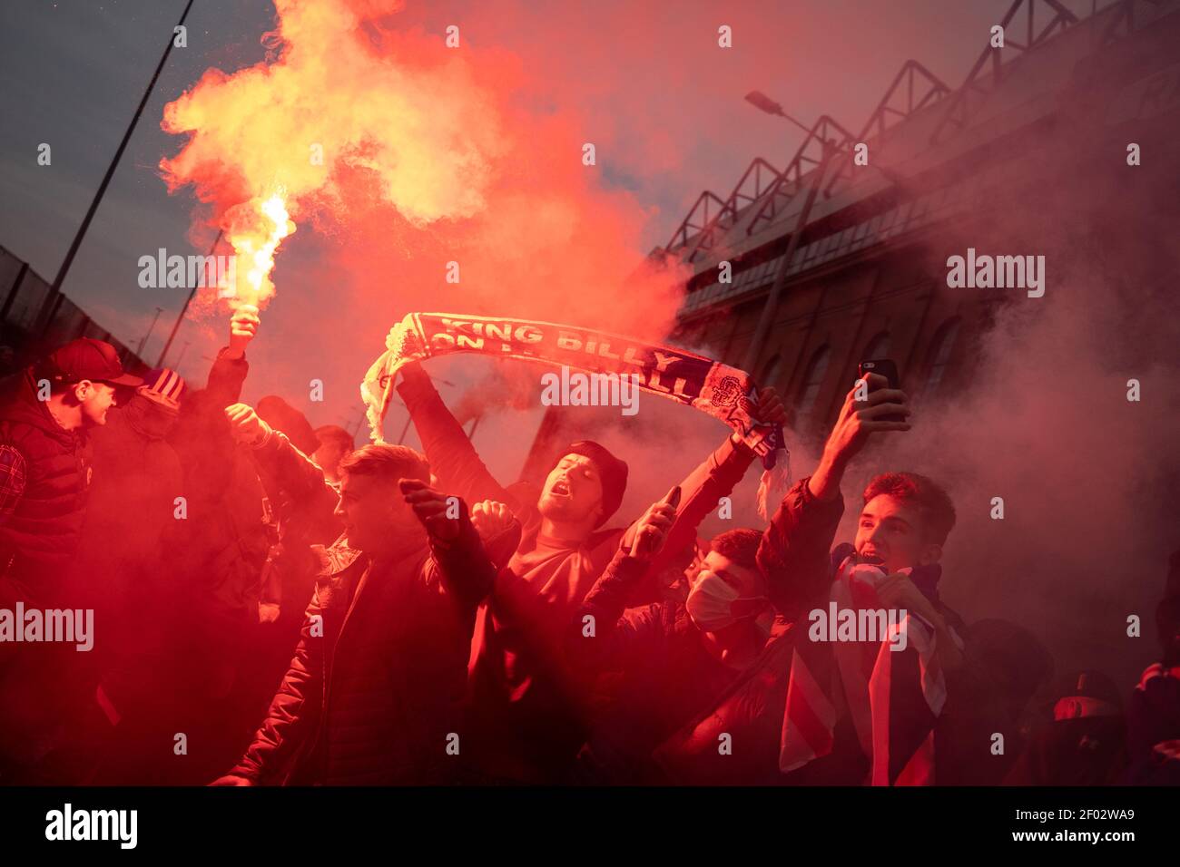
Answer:
[[(241, 403), (255, 314), (202, 389), (92, 339), (0, 383), (0, 783), (1180, 782), (1180, 552), (1122, 690), (943, 603), (923, 475), (872, 479), (833, 547), (850, 461), (910, 429), (884, 379), (766, 526), (706, 541), (738, 438), (612, 521), (623, 460), (572, 442), (504, 486), (417, 364), (425, 454)], [(83, 610), (91, 651), (17, 617)], [(904, 649), (817, 610), (905, 612)]]

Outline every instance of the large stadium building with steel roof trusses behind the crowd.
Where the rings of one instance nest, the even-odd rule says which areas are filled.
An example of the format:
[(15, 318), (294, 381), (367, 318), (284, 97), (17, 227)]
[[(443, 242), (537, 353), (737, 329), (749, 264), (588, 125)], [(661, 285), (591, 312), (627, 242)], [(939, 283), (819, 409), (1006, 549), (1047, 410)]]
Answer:
[(864, 359), (893, 359), (918, 405), (970, 386), (998, 306), (1029, 294), (951, 288), (951, 256), (1043, 255), (1050, 294), (1077, 267), (1171, 283), (1166, 238), (1104, 241), (1176, 210), (1180, 2), (1076, 7), (1016, 0), (958, 87), (909, 60), (859, 127), (821, 117), (785, 163), (702, 192), (653, 252), (693, 272), (673, 341), (775, 386), (815, 440)]

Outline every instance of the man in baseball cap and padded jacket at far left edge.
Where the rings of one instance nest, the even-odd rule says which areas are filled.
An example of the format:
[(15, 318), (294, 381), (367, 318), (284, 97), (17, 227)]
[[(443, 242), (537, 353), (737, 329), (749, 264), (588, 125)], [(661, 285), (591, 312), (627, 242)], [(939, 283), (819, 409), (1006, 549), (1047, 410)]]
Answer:
[[(66, 343), (0, 382), (0, 609), (70, 609), (91, 478), (88, 431), (106, 422), (129, 376), (114, 347)], [(67, 696), (80, 670), (72, 648), (0, 643), (0, 779), (53, 776)], [(53, 690), (45, 684), (52, 682)]]

